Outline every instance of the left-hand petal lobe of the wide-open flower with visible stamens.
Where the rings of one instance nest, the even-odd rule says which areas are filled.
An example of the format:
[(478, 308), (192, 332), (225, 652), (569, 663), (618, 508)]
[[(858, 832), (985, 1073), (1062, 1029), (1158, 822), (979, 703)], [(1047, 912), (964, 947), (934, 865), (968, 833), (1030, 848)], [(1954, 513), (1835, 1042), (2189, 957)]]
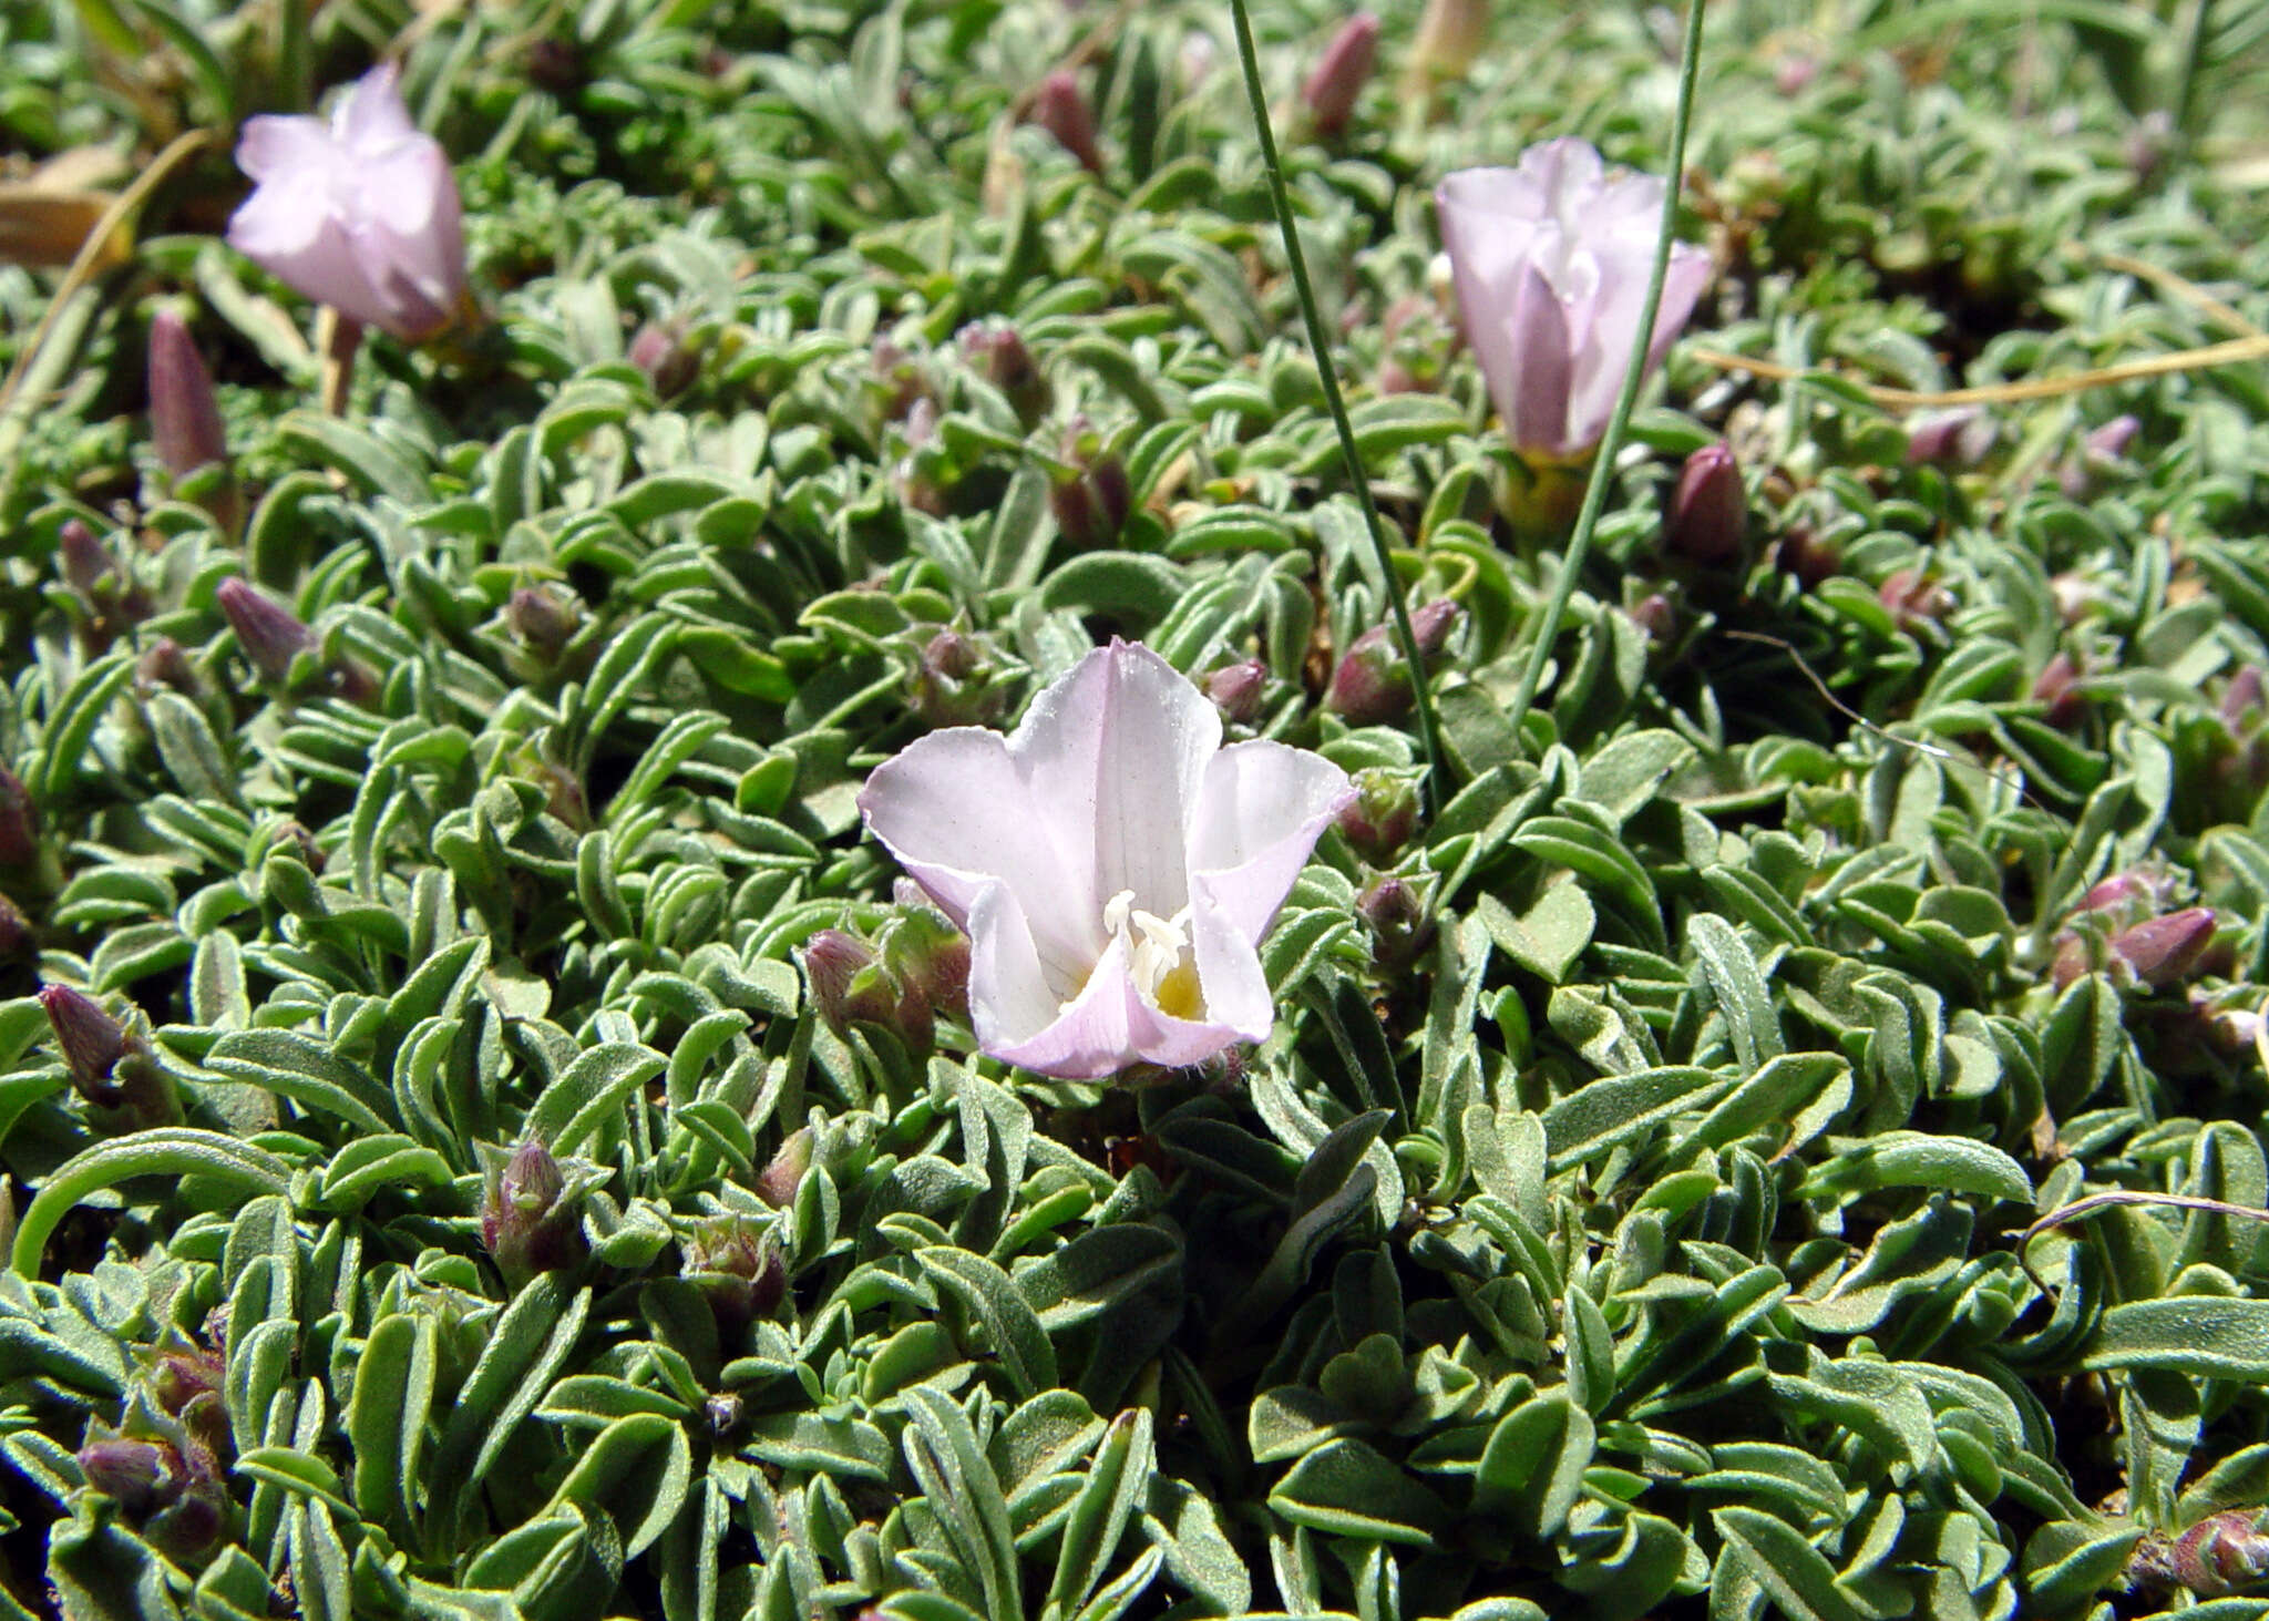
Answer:
[(1012, 749), (982, 726), (933, 731), (878, 765), (858, 806), (955, 922), (967, 926), (987, 883), (1005, 883), (1030, 919), (1041, 965), (1069, 994), (1103, 954), (1103, 901), (1087, 892), (1085, 867), (1057, 849), (1048, 817), (1035, 815), (1035, 790)]

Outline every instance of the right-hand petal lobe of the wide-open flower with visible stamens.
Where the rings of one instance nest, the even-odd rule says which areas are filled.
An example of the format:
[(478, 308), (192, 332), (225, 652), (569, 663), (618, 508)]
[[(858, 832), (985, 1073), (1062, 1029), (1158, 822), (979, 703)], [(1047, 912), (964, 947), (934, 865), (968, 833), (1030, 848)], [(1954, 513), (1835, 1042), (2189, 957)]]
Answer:
[(1323, 829), (1352, 799), (1355, 783), (1321, 754), (1266, 738), (1216, 754), (1189, 835), (1198, 910), (1218, 908), (1248, 947), (1259, 944)]

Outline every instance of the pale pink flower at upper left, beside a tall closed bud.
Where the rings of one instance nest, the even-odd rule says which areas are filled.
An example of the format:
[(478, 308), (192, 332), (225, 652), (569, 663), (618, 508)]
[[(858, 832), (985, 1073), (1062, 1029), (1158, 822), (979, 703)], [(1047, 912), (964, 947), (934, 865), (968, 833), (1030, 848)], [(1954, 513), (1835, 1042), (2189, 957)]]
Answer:
[(259, 182), (229, 245), (306, 297), (422, 343), (465, 306), (449, 154), (411, 123), (393, 64), (322, 118), (250, 118), (236, 166)]

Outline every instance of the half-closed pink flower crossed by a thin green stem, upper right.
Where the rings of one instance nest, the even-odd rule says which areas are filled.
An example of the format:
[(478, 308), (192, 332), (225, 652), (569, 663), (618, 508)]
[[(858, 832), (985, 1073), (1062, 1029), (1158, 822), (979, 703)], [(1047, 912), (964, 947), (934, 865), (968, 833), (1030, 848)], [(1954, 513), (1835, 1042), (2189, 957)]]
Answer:
[[(1466, 341), (1513, 447), (1581, 456), (1606, 431), (1654, 270), (1663, 182), (1606, 177), (1584, 141), (1547, 141), (1518, 168), (1466, 168), (1434, 191)], [(1709, 282), (1709, 254), (1672, 243), (1647, 370)]]

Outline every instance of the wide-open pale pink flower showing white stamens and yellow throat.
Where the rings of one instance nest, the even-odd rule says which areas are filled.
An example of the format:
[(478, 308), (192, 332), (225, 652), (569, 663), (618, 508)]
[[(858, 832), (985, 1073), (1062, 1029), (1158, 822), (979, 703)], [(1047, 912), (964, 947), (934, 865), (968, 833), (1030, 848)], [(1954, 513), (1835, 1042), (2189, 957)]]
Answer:
[(1007, 738), (933, 731), (860, 792), (867, 826), (969, 931), (978, 1047), (1053, 1076), (1193, 1065), (1275, 1022), (1257, 944), (1348, 774), (1112, 642)]

